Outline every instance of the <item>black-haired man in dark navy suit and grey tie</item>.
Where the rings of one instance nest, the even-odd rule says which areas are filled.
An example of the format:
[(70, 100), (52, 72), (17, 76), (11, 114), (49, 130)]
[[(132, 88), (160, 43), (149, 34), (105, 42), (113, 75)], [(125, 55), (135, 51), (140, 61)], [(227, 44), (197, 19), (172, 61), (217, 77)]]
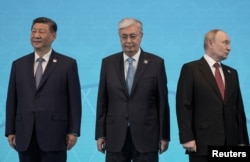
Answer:
[[(46, 17), (33, 20), (34, 52), (12, 64), (6, 132), (20, 162), (66, 162), (80, 136), (81, 89), (76, 61), (52, 50), (57, 25)], [(41, 64), (36, 60), (42, 59)], [(37, 70), (39, 67), (41, 70)], [(41, 80), (36, 79), (40, 71)]]

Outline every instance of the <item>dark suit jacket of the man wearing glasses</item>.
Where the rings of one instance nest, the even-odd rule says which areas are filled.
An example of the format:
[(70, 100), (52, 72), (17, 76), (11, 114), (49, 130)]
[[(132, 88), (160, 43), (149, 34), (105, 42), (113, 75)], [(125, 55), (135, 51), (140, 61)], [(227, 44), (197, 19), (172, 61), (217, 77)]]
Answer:
[(102, 61), (95, 138), (106, 137), (106, 149), (121, 151), (130, 122), (132, 140), (140, 152), (159, 149), (170, 140), (167, 78), (164, 61), (141, 52), (131, 95), (128, 95), (123, 53)]

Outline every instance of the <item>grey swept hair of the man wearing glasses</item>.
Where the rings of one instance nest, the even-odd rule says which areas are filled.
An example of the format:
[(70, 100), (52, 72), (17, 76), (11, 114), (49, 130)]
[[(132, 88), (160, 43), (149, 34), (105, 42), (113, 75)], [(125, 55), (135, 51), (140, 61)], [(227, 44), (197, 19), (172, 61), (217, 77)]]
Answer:
[(120, 31), (123, 28), (127, 28), (131, 25), (137, 25), (138, 27), (140, 27), (141, 33), (143, 33), (143, 25), (142, 22), (138, 19), (135, 18), (124, 18), (119, 22), (118, 25), (118, 30)]

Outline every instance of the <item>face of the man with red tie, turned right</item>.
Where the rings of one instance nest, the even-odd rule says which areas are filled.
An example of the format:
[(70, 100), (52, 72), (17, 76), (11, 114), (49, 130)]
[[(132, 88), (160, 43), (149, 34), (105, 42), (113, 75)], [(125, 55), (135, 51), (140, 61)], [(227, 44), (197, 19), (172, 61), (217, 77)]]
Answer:
[(231, 50), (230, 39), (226, 33), (219, 31), (214, 41), (212, 41), (211, 47), (213, 57), (216, 58), (217, 61), (224, 60)]

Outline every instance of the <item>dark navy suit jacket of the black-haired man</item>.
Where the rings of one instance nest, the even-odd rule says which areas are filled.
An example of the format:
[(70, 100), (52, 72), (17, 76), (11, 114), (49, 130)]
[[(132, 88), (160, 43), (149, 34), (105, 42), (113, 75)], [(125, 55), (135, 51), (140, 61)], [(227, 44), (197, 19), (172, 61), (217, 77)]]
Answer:
[(79, 136), (80, 122), (81, 90), (74, 59), (52, 51), (38, 89), (34, 53), (13, 62), (5, 135), (16, 135), (18, 151), (28, 148), (33, 128), (42, 150), (66, 150), (66, 134)]

